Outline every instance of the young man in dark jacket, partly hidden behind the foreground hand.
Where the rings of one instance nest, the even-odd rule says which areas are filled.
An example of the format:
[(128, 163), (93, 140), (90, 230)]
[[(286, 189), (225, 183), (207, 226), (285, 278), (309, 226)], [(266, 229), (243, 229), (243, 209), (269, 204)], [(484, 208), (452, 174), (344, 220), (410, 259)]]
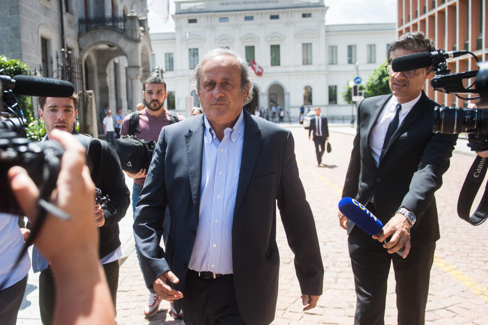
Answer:
[[(60, 137), (76, 134), (75, 117), (77, 115), (78, 96), (73, 93), (69, 98), (38, 97), (39, 115), (46, 126), (47, 136), (51, 140), (52, 131), (66, 131)], [(118, 156), (106, 141), (85, 136), (88, 142), (87, 158), (91, 160), (91, 176), (102, 194), (108, 195), (110, 202), (101, 209), (95, 206), (95, 223), (100, 234), (99, 256), (110, 288), (113, 306), (116, 306), (118, 287), (118, 258), (122, 256), (118, 222), (126, 214), (130, 204), (130, 192), (125, 183), (125, 176), (120, 167)], [(95, 189), (94, 189), (95, 191)], [(95, 204), (93, 201), (92, 205)], [(33, 270), (41, 271), (39, 276), (39, 307), (44, 325), (52, 323), (55, 303), (55, 283), (51, 268), (45, 258), (33, 249)]]

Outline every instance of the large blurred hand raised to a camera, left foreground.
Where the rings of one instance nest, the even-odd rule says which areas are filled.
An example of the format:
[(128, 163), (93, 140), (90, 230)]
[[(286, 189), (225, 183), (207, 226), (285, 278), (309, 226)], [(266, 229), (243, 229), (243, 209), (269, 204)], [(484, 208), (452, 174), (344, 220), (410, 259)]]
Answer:
[[(82, 261), (83, 256), (98, 254), (98, 233), (93, 213), (95, 185), (85, 165), (85, 149), (81, 143), (57, 129), (52, 130), (51, 136), (66, 150), (51, 202), (68, 213), (71, 219), (62, 220), (48, 213), (35, 244), (53, 268), (63, 269), (78, 265), (76, 261)], [(8, 175), (17, 202), (25, 215), (35, 222), (39, 198), (36, 184), (18, 166), (12, 167)]]

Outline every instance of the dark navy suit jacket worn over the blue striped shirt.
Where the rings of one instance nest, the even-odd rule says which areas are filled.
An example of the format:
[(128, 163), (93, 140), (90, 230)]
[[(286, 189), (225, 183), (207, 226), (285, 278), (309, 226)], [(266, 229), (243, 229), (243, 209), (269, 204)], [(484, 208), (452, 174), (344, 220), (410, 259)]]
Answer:
[[(237, 304), (249, 324), (275, 315), (280, 259), (276, 203), (295, 253), (303, 294), (321, 295), (323, 265), (315, 222), (298, 177), (291, 133), (244, 112), (244, 140), (232, 224), (232, 264)], [(171, 270), (184, 295), (185, 278), (198, 231), (203, 114), (162, 129), (136, 208), (134, 237), (146, 285)], [(171, 226), (160, 245), (166, 206)]]

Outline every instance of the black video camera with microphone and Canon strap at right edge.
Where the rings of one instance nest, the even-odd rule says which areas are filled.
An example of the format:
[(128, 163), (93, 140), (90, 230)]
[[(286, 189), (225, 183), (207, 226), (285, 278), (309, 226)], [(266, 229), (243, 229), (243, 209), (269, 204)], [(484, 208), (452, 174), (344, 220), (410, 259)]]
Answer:
[[(468, 147), (472, 151), (488, 150), (488, 61), (478, 62), (479, 70), (459, 73), (450, 73), (447, 69), (446, 59), (470, 54), (478, 62), (478, 58), (469, 51), (452, 51), (443, 53), (421, 52), (394, 58), (391, 61), (393, 71), (429, 68), (436, 76), (431, 79), (434, 90), (446, 93), (454, 93), (462, 100), (479, 99), (478, 108), (440, 107), (434, 109), (434, 133), (468, 135)], [(465, 87), (465, 79), (474, 78), (471, 85)], [(473, 88), (473, 86), (475, 86)], [(464, 98), (460, 93), (476, 93), (475, 97)], [(471, 206), (479, 187), (486, 175), (488, 161), (486, 157), (476, 156), (466, 176), (463, 187), (457, 200), (457, 214), (472, 225), (479, 225), (488, 218), (488, 184), (481, 201), (472, 215)]]

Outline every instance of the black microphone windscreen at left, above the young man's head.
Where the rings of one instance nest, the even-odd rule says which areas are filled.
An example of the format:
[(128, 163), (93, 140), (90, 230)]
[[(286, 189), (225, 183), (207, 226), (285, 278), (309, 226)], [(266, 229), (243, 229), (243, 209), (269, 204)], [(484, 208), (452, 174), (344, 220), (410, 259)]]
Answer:
[(43, 77), (15, 76), (13, 92), (27, 96), (43, 97), (69, 97), (75, 91), (75, 87), (69, 81)]

